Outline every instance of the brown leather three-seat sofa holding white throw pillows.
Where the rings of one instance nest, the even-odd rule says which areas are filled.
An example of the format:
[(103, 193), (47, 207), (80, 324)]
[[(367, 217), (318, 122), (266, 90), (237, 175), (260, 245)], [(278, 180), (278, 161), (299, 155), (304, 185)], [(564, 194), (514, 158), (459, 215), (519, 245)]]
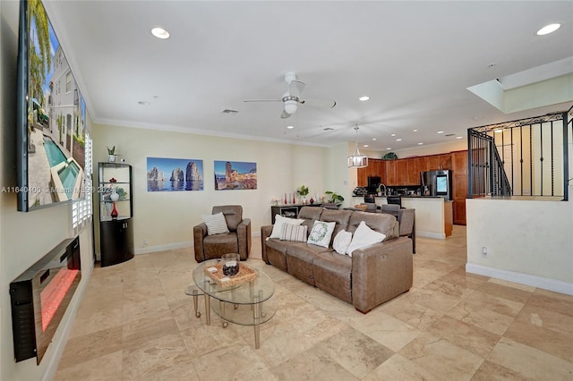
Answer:
[[(329, 248), (299, 241), (270, 238), (272, 225), (261, 226), (262, 259), (269, 265), (318, 287), (366, 313), (412, 287), (412, 240), (400, 237), (396, 217), (352, 210), (302, 207), (298, 215), (308, 231), (314, 221), (336, 222)], [(364, 221), (386, 238), (352, 257), (332, 249), (332, 240), (342, 229), (354, 233)]]

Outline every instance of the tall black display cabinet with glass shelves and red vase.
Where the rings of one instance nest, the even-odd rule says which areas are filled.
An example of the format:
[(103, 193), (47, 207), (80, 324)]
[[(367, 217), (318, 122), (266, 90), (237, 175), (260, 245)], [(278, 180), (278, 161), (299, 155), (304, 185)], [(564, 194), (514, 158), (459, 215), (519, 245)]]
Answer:
[(132, 166), (99, 163), (99, 250), (101, 267), (133, 258)]

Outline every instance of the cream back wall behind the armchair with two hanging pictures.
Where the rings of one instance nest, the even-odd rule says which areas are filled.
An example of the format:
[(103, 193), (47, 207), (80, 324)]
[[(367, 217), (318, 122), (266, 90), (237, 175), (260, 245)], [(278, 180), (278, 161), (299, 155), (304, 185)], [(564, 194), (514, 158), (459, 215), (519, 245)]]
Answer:
[[(348, 191), (346, 144), (319, 148), (109, 125), (95, 125), (93, 138), (94, 172), (99, 161), (107, 160), (106, 147), (111, 146), (125, 163), (133, 165), (136, 253), (192, 246), (192, 226), (201, 223), (201, 214), (210, 214), (214, 205), (242, 205), (256, 236), (261, 225), (270, 224), (273, 198), (283, 199), (302, 184), (310, 188), (311, 195)], [(203, 160), (203, 190), (148, 192), (147, 157)], [(214, 160), (256, 162), (257, 190), (215, 190)], [(341, 164), (332, 170), (335, 162)]]

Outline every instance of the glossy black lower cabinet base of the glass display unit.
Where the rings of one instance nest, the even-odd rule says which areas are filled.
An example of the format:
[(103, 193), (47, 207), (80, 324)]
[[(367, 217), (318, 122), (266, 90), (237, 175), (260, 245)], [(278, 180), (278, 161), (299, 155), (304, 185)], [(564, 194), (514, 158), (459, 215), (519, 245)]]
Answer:
[(118, 218), (99, 224), (101, 267), (133, 258), (133, 219)]

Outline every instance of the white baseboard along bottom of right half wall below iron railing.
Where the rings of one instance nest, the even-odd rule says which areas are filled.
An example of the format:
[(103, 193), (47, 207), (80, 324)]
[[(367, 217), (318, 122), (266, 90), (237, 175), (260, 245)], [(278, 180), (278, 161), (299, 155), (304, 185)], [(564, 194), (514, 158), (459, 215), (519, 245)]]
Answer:
[(515, 282), (517, 284), (526, 284), (528, 286), (543, 288), (553, 292), (566, 293), (573, 295), (573, 284), (558, 281), (555, 279), (544, 278), (543, 276), (516, 273), (514, 271), (501, 270), (499, 268), (485, 267), (466, 263), (466, 272), (490, 276), (492, 278), (502, 279), (504, 281)]

